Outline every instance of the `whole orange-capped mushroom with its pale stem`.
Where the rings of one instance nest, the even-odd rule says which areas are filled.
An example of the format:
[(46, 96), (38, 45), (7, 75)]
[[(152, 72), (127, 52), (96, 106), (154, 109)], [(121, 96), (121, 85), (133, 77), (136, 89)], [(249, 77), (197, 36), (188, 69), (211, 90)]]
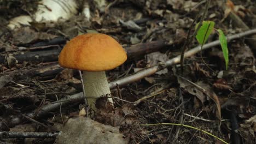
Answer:
[[(96, 110), (95, 102), (110, 94), (105, 70), (123, 64), (127, 59), (123, 47), (112, 37), (100, 33), (78, 35), (62, 49), (59, 64), (64, 68), (83, 71), (88, 105)], [(112, 98), (108, 98), (112, 103)]]

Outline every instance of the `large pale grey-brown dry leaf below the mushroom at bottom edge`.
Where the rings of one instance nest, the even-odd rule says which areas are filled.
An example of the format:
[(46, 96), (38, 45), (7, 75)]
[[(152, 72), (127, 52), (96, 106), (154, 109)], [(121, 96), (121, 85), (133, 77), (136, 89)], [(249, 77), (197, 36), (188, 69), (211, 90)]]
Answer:
[(119, 133), (119, 127), (112, 127), (93, 121), (90, 118), (70, 118), (61, 128), (61, 135), (57, 136), (56, 144), (82, 143), (128, 143)]

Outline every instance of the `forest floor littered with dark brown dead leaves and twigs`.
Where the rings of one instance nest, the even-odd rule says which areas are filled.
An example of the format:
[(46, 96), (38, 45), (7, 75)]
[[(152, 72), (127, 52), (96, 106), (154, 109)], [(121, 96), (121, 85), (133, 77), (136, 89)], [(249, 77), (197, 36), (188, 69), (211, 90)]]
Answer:
[[(9, 21), (33, 15), (38, 2), (0, 3), (1, 131), (56, 132), (53, 128), (69, 118), (84, 117), (78, 70), (61, 68), (57, 59), (68, 40), (98, 32), (111, 35), (127, 51), (123, 65), (106, 71), (108, 81), (124, 79), (128, 84), (110, 87), (114, 108), (103, 107), (91, 119), (118, 127), (129, 143), (256, 143), (255, 35), (229, 41), (227, 70), (222, 47), (214, 45), (201, 51), (202, 57), (200, 52), (186, 57), (183, 67), (175, 63), (129, 81), (129, 76), (181, 55), (184, 43), (189, 41), (186, 51), (199, 45), (192, 34), (207, 1), (88, 1), (68, 20), (30, 22), (16, 29), (8, 27)], [(79, 14), (83, 5), (90, 8), (88, 19)], [(225, 35), (256, 28), (253, 0), (211, 1), (207, 12), (204, 20), (215, 22)], [(217, 31), (206, 43), (214, 40)], [(75, 94), (78, 99), (49, 106)], [(3, 143), (55, 141), (2, 138)]]

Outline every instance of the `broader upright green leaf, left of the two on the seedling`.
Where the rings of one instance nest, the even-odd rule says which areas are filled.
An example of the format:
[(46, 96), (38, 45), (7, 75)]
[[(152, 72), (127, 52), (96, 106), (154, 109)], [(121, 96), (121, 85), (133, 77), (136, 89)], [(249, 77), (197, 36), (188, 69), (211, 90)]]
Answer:
[[(203, 45), (208, 39), (209, 35), (212, 33), (214, 29), (215, 23), (213, 21), (203, 21), (202, 26), (199, 28), (196, 34), (197, 41)], [(198, 24), (196, 25), (196, 27)]]

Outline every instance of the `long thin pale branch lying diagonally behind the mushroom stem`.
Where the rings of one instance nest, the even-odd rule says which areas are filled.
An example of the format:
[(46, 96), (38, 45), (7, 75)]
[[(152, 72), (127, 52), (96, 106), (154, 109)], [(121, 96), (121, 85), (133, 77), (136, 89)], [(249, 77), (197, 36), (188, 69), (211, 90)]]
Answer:
[[(230, 36), (228, 36), (228, 41), (238, 39), (238, 38), (241, 38), (241, 37), (245, 37), (246, 35), (255, 34), (255, 33), (256, 33), (256, 29), (252, 29), (250, 31), (230, 35)], [(216, 41), (213, 41), (211, 43), (203, 45), (203, 50), (209, 49), (210, 47), (217, 46), (217, 45), (219, 45), (219, 40), (216, 40)], [(196, 46), (194, 49), (191, 49), (191, 50), (185, 52), (184, 58), (195, 55), (195, 53), (200, 52), (200, 49), (201, 49), (201, 46), (199, 45), (199, 46)], [(179, 55), (177, 57), (174, 57), (174, 58), (170, 59), (166, 63), (161, 64), (161, 65), (156, 65), (155, 67), (151, 67), (151, 68), (147, 68), (147, 69), (138, 71), (136, 74), (127, 76), (123, 79), (119, 79), (119, 80), (110, 82), (109, 87), (110, 87), (110, 89), (114, 89), (117, 86), (117, 84), (119, 86), (128, 85), (129, 83), (140, 80), (143, 77), (152, 75), (156, 71), (159, 71), (159, 70), (164, 69), (166, 67), (170, 67), (173, 64), (177, 64), (177, 63), (180, 62), (180, 60), (181, 60), (181, 56)], [(26, 115), (29, 116), (29, 117), (36, 117), (36, 118), (43, 117), (47, 113), (59, 109), (60, 105), (64, 106), (64, 105), (68, 105), (70, 103), (73, 104), (74, 102), (83, 101), (83, 99), (84, 99), (83, 93), (82, 92), (77, 93), (77, 94), (71, 95), (71, 97), (69, 97), (68, 99), (59, 100), (59, 101), (56, 101), (53, 104), (43, 106), (42, 109), (37, 113), (37, 116), (34, 114), (34, 112), (27, 113)], [(22, 118), (20, 118), (19, 116), (11, 116), (10, 119), (7, 119), (7, 121), (8, 121), (8, 127), (10, 128), (10, 127), (14, 127), (15, 125), (23, 122), (24, 120), (22, 120)], [(7, 126), (6, 124), (7, 124), (7, 122), (1, 121), (0, 122), (0, 128), (3, 129), (3, 127)]]

